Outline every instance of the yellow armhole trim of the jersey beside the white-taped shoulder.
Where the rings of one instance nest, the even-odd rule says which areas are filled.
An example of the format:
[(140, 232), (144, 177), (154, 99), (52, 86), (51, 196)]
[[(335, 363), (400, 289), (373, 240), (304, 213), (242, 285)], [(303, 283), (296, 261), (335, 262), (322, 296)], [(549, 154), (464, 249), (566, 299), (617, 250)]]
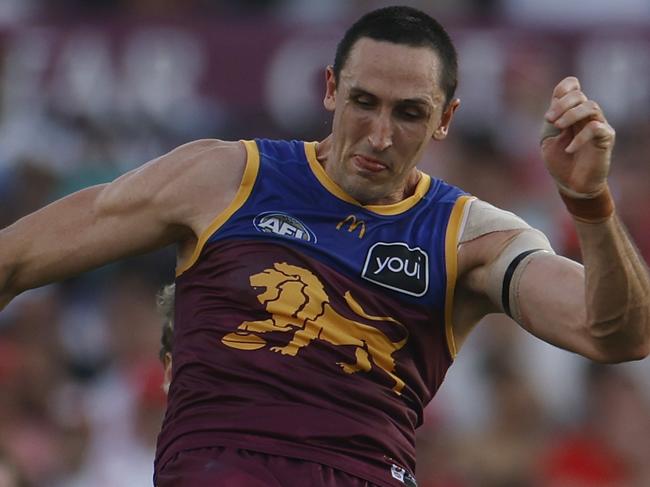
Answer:
[(447, 232), (445, 234), (445, 267), (447, 271), (447, 289), (445, 292), (445, 337), (447, 339), (447, 350), (451, 359), (454, 360), (458, 354), (456, 340), (454, 338), (453, 309), (454, 290), (458, 277), (458, 242), (463, 233), (463, 227), (467, 221), (467, 215), (471, 202), (476, 198), (473, 196), (460, 196), (454, 208), (451, 210)]

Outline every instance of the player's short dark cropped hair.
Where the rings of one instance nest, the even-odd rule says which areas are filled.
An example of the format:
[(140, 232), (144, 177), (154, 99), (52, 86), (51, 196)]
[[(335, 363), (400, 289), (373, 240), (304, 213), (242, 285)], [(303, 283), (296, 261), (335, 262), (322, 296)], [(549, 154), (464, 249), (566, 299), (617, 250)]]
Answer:
[(385, 7), (365, 14), (352, 24), (336, 47), (333, 69), (337, 85), (352, 47), (363, 37), (433, 49), (443, 66), (440, 87), (446, 103), (453, 99), (458, 85), (458, 56), (449, 34), (434, 18), (412, 7)]

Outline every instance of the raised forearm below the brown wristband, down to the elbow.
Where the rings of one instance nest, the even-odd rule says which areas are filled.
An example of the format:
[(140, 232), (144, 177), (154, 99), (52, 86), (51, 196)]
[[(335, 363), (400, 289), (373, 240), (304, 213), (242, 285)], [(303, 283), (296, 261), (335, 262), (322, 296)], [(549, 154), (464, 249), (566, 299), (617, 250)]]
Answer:
[(576, 220), (585, 266), (589, 333), (612, 361), (645, 357), (650, 348), (648, 268), (618, 217)]

